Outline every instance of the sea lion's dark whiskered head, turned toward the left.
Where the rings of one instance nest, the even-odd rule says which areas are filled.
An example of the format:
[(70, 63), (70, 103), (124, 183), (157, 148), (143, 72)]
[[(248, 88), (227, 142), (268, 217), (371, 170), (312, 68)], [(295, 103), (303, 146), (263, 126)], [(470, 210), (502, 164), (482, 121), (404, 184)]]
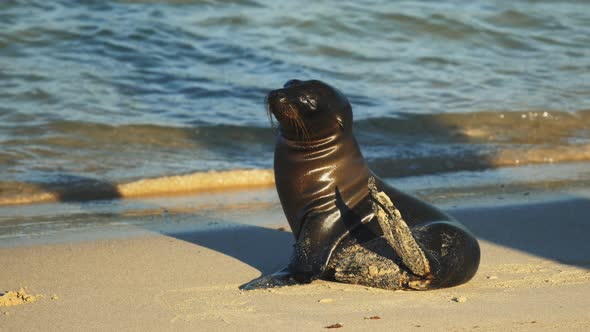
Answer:
[[(352, 130), (352, 107), (338, 89), (317, 80), (290, 80), (266, 97), (280, 135), (313, 142)], [(272, 119), (271, 119), (272, 122)]]

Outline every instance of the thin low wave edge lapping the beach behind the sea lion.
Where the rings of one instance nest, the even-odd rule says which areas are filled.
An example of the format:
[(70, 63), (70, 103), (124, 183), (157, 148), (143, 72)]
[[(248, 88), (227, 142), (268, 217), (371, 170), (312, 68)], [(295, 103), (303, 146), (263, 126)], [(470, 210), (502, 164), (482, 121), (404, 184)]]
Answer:
[[(387, 169), (393, 167), (392, 162), (401, 164), (395, 167), (407, 169), (414, 169), (417, 165), (411, 161), (406, 164), (400, 160), (375, 162), (381, 164), (374, 165), (379, 170), (377, 174), (387, 181), (402, 183), (409, 189), (424, 190), (442, 187), (445, 193), (449, 192), (449, 188), (451, 191), (467, 189), (477, 191), (478, 195), (485, 197), (494, 191), (494, 185), (498, 181), (509, 186), (521, 187), (521, 189), (528, 187), (529, 190), (534, 191), (590, 185), (590, 177), (586, 171), (590, 167), (588, 160), (555, 162), (548, 159), (544, 162), (458, 167), (455, 170), (448, 169), (455, 163), (447, 160), (449, 167), (445, 166), (447, 168), (444, 170), (421, 173), (415, 169), (407, 171), (408, 174), (404, 176), (389, 174), (391, 172)], [(431, 163), (438, 162), (431, 161)], [(0, 209), (48, 203), (92, 203), (100, 200), (159, 199), (216, 193), (233, 195), (235, 192), (244, 190), (259, 191), (274, 187), (274, 171), (272, 169), (210, 170), (135, 179), (121, 183), (84, 177), (75, 178), (75, 180), (71, 183), (0, 181)], [(463, 183), (457, 185), (458, 181)], [(425, 186), (425, 183), (428, 184)], [(428, 193), (428, 190), (426, 192)]]

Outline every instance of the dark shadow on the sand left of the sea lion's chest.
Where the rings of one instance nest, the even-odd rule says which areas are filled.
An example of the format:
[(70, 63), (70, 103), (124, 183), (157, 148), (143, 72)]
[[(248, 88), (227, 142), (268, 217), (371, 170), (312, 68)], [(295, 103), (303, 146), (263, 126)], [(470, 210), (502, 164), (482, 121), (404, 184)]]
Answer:
[(289, 231), (253, 225), (166, 235), (233, 257), (262, 275), (286, 267), (295, 242)]

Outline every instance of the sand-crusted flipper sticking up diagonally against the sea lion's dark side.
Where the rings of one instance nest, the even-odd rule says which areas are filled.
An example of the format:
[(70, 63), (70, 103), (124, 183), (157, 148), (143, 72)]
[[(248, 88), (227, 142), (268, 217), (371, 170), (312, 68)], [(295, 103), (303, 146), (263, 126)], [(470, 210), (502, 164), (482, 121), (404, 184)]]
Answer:
[(399, 210), (387, 194), (377, 190), (375, 178), (372, 176), (369, 177), (368, 187), (373, 213), (389, 245), (413, 274), (426, 279), (431, 278), (432, 271), (428, 258), (414, 239)]

